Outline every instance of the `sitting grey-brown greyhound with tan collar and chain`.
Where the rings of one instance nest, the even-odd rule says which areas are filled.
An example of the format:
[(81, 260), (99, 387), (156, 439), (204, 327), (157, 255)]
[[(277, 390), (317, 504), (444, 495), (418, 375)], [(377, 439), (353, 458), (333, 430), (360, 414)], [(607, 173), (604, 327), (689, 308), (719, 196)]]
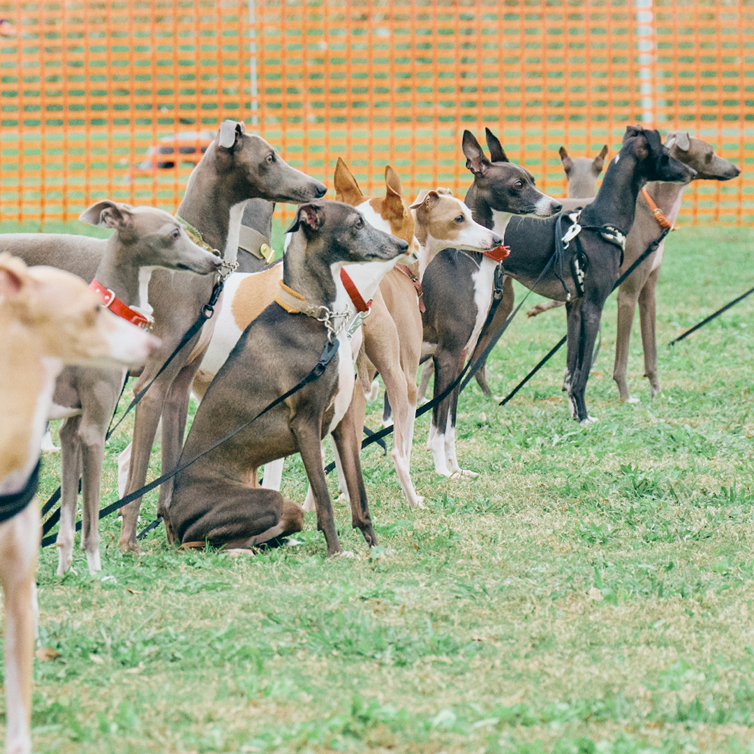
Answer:
[(409, 244), (335, 201), (302, 205), (288, 232), (293, 236), (281, 291), (247, 326), (207, 389), (180, 463), (196, 458), (297, 385), (328, 341), (337, 341), (337, 354), (318, 379), (179, 472), (164, 520), (168, 538), (182, 544), (247, 548), (299, 531), (302, 508), (280, 492), (260, 488), (256, 479), (262, 464), (299, 452), (314, 492), (317, 528), (328, 553), (341, 552), (320, 456), (320, 442), (329, 431), (342, 461), (353, 526), (367, 544), (376, 544), (351, 409), (354, 364), (344, 329), (350, 310), (336, 276), (344, 264), (394, 259)]

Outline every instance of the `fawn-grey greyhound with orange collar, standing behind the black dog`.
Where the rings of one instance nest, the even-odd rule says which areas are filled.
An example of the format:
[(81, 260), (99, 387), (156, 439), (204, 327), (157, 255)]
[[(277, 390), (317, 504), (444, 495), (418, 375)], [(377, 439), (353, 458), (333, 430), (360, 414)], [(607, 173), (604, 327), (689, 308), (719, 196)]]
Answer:
[[(740, 168), (716, 155), (711, 144), (703, 139), (689, 136), (685, 131), (669, 133), (665, 139), (665, 146), (670, 150), (673, 158), (697, 171), (694, 180), (727, 181), (740, 175)], [(636, 219), (626, 240), (626, 253), (621, 265), (621, 274), (630, 268), (648, 245), (659, 236), (664, 224), (672, 227), (676, 222), (685, 187), (685, 183), (651, 182), (639, 194), (636, 199)], [(665, 241), (661, 241), (657, 250), (649, 254), (618, 288), (618, 333), (615, 342), (613, 379), (618, 384), (621, 400), (629, 403), (638, 403), (637, 398), (631, 397), (626, 379), (628, 345), (637, 302), (644, 351), (644, 376), (649, 380), (651, 397), (654, 398), (660, 391), (660, 382), (657, 379), (655, 293), (664, 247)], [(559, 305), (562, 305), (562, 302), (538, 304), (527, 314), (534, 316)]]

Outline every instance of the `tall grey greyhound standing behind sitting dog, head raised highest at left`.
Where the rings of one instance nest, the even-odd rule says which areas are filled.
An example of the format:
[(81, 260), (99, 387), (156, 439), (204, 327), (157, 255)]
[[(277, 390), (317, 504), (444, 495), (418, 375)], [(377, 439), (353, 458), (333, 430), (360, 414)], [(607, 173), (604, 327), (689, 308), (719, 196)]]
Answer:
[[(225, 121), (216, 139), (189, 176), (189, 186), (178, 208), (178, 215), (197, 229), (204, 243), (224, 250), (225, 262), (234, 262), (238, 253), (238, 228), (244, 204), (250, 198), (267, 201), (305, 202), (326, 192), (322, 183), (290, 167), (260, 136), (247, 133), (244, 124)], [(213, 281), (189, 277), (166, 270), (152, 276), (150, 302), (155, 307), (155, 335), (163, 345), (139, 375), (133, 390), (149, 384), (188, 328), (210, 299)], [(170, 295), (166, 291), (170, 290)], [(162, 418), (162, 469), (173, 468), (178, 461), (189, 409), (189, 390), (194, 375), (207, 350), (213, 329), (209, 320), (201, 333), (186, 345), (178, 357), (155, 379), (152, 387), (136, 406), (133, 446), (126, 492), (143, 486), (149, 455), (158, 422)], [(160, 489), (158, 513), (162, 515), (170, 498), (172, 483)], [(136, 520), (141, 499), (123, 509), (121, 537), (124, 550), (139, 551), (136, 544)]]

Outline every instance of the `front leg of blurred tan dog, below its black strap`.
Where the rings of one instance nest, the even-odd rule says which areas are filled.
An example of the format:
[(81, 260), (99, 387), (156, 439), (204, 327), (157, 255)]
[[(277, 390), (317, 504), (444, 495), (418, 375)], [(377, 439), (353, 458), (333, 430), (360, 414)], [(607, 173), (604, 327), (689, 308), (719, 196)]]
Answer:
[(5, 751), (29, 754), (32, 750), (34, 575), (41, 531), (36, 501), (5, 522), (3, 528), (0, 579), (5, 601)]

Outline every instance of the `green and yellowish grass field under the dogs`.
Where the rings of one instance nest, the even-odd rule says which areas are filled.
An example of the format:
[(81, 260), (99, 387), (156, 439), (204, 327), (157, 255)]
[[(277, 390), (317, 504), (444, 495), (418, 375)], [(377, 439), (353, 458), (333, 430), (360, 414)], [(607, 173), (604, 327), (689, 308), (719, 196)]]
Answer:
[[(596, 425), (568, 418), (560, 353), (504, 408), (476, 386), (461, 397), (459, 458), (477, 480), (436, 477), (418, 422), (427, 510), (406, 507), (372, 446), (371, 553), (340, 503), (352, 558), (326, 559), (313, 513), (255, 557), (179, 552), (162, 530), (121, 556), (113, 519), (99, 578), (78, 551), (57, 578), (45, 550), (41, 645), (59, 654), (35, 665), (35, 750), (754, 752), (754, 297), (665, 346), (754, 285), (752, 251), (745, 228), (669, 238), (657, 400), (637, 331), (642, 402), (618, 402), (613, 298), (587, 388)], [(520, 316), (493, 354), (495, 391), (564, 331), (562, 310)], [(127, 441), (109, 443), (103, 504)], [(58, 479), (46, 458), (41, 498)], [(305, 486), (291, 459), (284, 492), (302, 501)]]

